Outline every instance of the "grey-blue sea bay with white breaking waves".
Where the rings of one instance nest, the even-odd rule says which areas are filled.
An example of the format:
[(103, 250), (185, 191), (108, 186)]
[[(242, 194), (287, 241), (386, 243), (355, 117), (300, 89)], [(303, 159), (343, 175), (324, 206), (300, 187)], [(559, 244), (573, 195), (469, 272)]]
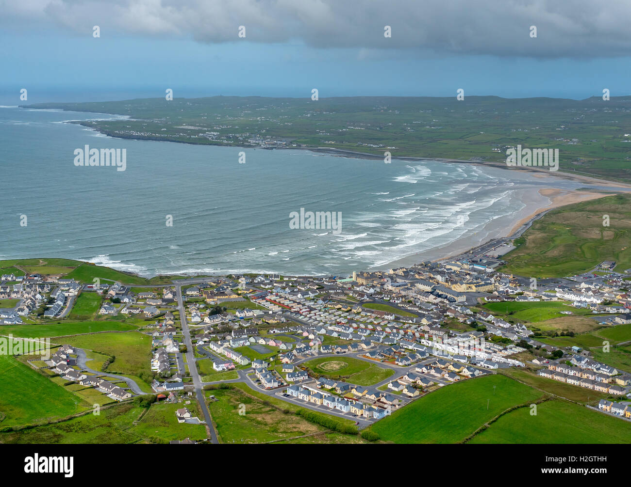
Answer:
[[(0, 108), (1, 259), (74, 258), (143, 276), (348, 275), (499, 236), (524, 216), (524, 195), (586, 186), (474, 164), (114, 139), (64, 123), (93, 118), (113, 116)], [(126, 170), (75, 166), (86, 145), (126, 149)], [(339, 212), (339, 231), (290, 228), (301, 209)]]

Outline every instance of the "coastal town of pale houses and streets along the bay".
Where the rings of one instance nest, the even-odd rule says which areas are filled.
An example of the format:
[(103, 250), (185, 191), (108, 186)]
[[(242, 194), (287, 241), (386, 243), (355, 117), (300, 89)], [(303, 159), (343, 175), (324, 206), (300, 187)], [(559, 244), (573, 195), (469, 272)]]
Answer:
[(443, 387), (529, 369), (622, 398), (587, 407), (631, 420), (628, 370), (597, 360), (593, 348), (545, 343), (558, 333), (502, 311), (551, 306), (556, 316), (589, 317), (594, 326), (631, 324), (624, 289), (631, 269), (603, 261), (591, 273), (533, 284), (496, 270), (510, 248), (500, 239), (457, 258), (348, 277), (229, 275), (150, 287), (14, 272), (2, 275), (0, 299), (13, 306), (0, 320), (12, 329), (37, 326), (71, 316), (87, 297), (94, 316), (135, 320), (151, 343), (150, 377), (109, 372), (107, 364), (97, 370), (93, 350), (63, 341), (49, 360), (28, 364), (117, 403), (154, 394), (174, 404), (178, 423), (207, 428), (211, 441), (210, 392), (239, 382), (362, 430)]

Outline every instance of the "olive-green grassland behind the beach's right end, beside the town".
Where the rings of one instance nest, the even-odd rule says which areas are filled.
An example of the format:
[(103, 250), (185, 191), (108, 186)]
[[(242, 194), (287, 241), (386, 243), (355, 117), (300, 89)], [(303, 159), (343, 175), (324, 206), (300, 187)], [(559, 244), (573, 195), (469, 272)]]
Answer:
[[(603, 226), (609, 215), (610, 226)], [(500, 268), (524, 277), (564, 277), (592, 270), (603, 260), (631, 267), (631, 195), (567, 205), (533, 222), (502, 258)]]

